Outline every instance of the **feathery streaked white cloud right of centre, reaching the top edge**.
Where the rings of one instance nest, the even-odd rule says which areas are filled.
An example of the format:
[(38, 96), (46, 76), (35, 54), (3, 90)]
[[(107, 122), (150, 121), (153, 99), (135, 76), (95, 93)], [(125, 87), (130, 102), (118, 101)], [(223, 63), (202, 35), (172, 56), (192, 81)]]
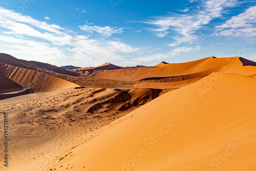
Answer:
[[(191, 1), (193, 3), (195, 1)], [(198, 2), (198, 1), (197, 1)], [(176, 41), (170, 46), (187, 43), (191, 44), (198, 41), (198, 36), (195, 35), (196, 31), (207, 25), (211, 20), (220, 17), (225, 8), (233, 7), (237, 4), (236, 0), (208, 0), (200, 1), (201, 9), (191, 11), (189, 14), (172, 14), (170, 16), (160, 16), (148, 22), (142, 22), (154, 25), (157, 28), (149, 30), (156, 32), (157, 36), (164, 37), (171, 31), (179, 34), (173, 37)], [(188, 9), (186, 9), (188, 10)], [(185, 11), (186, 11), (185, 10)]]

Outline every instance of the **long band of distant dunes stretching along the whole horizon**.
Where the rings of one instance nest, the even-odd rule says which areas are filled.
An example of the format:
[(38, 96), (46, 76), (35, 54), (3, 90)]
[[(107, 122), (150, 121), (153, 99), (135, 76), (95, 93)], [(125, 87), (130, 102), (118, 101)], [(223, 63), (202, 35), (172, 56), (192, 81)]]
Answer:
[[(184, 63), (161, 62), (155, 67), (142, 68), (124, 68), (104, 63), (99, 67), (78, 70), (64, 70), (58, 67), (56, 69), (47, 63), (19, 60), (7, 54), (0, 54), (0, 61), (50, 74), (79, 84), (79, 86), (91, 88), (177, 89), (194, 83), (212, 72), (256, 77), (253, 67), (255, 62), (241, 57), (208, 57)], [(62, 70), (67, 73), (63, 74)]]

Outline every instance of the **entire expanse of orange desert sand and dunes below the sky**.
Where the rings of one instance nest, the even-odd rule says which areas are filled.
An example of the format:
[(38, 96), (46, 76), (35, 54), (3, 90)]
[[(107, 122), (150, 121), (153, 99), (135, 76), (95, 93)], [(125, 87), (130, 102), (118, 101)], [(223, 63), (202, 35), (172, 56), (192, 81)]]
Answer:
[(256, 170), (255, 62), (113, 66), (63, 74), (0, 54), (8, 170)]

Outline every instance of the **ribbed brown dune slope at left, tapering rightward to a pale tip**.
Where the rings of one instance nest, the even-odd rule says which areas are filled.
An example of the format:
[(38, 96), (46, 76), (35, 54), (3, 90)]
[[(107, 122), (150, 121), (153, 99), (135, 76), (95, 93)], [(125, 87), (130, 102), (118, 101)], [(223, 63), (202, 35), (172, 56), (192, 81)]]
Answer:
[[(51, 92), (68, 88), (80, 87), (75, 83), (40, 73), (19, 68), (0, 62), (1, 90), (31, 88), (34, 92)], [(8, 84), (7, 84), (8, 83)]]

